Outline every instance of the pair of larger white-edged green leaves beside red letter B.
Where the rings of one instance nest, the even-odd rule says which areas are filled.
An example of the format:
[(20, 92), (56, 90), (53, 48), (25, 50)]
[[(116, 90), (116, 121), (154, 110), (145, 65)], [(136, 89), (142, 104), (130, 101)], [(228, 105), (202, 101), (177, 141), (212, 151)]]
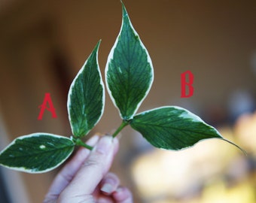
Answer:
[(183, 108), (162, 107), (135, 116), (151, 89), (154, 70), (124, 6), (122, 26), (108, 56), (105, 78), (123, 122), (130, 123), (154, 147), (181, 150), (202, 139), (222, 138), (215, 128)]

